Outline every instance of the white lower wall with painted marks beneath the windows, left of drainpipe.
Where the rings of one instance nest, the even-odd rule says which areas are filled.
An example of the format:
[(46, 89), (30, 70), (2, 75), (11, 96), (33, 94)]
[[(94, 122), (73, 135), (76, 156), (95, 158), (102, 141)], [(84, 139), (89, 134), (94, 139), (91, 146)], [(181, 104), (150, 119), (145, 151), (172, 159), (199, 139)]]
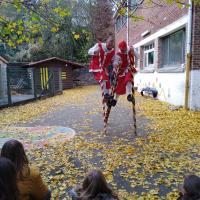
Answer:
[(158, 90), (159, 100), (184, 105), (185, 73), (137, 73), (134, 79), (139, 92), (143, 87), (153, 87)]

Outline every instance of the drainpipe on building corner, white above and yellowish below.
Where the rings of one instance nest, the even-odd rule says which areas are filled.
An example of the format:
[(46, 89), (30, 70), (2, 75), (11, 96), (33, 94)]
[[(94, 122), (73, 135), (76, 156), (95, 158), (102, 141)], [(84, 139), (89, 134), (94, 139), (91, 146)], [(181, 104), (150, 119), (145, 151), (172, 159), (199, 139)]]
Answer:
[(188, 110), (189, 89), (190, 89), (190, 68), (191, 68), (191, 44), (192, 44), (192, 0), (189, 0), (188, 23), (187, 23), (187, 61), (185, 81), (185, 103), (184, 108)]

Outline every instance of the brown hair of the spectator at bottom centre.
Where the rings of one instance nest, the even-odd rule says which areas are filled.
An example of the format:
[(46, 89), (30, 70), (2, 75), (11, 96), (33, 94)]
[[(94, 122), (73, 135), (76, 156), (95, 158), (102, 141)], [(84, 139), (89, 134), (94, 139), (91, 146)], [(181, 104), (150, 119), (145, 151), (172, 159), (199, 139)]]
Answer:
[(106, 179), (100, 170), (92, 170), (89, 172), (80, 188), (77, 188), (75, 191), (78, 200), (101, 199), (99, 194), (106, 194), (118, 199), (117, 195), (108, 187)]

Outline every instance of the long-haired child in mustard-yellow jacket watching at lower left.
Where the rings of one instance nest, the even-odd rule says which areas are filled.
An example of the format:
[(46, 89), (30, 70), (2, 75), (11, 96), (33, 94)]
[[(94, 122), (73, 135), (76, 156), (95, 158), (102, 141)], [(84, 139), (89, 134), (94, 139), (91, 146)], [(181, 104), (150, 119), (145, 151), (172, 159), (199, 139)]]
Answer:
[(43, 182), (39, 170), (30, 166), (23, 145), (9, 140), (1, 150), (1, 156), (11, 160), (17, 170), (19, 200), (49, 200), (50, 191)]

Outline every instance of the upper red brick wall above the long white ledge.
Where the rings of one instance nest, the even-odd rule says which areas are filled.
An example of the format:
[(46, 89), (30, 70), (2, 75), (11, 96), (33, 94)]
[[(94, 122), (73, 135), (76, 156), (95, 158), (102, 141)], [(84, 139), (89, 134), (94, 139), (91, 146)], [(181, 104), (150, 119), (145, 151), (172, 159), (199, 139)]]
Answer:
[[(129, 20), (129, 44), (135, 44), (144, 39), (141, 33), (149, 30), (150, 35), (157, 32), (161, 28), (173, 23), (182, 16), (187, 14), (188, 9), (178, 8), (176, 4), (167, 4), (164, 1), (155, 0), (154, 2), (160, 5), (149, 5), (147, 0), (138, 7), (135, 15), (143, 16), (144, 20), (134, 22)], [(186, 0), (186, 2), (188, 2)], [(125, 25), (120, 31), (115, 33), (116, 45), (121, 39), (127, 38), (127, 26)], [(149, 36), (149, 35), (148, 35)]]

